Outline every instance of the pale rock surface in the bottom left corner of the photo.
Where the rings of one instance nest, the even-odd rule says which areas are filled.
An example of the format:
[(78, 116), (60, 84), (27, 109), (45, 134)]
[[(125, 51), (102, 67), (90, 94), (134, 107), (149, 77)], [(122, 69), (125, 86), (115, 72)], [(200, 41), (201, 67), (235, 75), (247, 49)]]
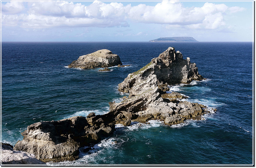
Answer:
[(10, 144), (2, 143), (2, 157), (1, 164), (45, 164), (40, 160), (37, 160), (33, 154), (28, 152), (13, 150), (13, 146)]

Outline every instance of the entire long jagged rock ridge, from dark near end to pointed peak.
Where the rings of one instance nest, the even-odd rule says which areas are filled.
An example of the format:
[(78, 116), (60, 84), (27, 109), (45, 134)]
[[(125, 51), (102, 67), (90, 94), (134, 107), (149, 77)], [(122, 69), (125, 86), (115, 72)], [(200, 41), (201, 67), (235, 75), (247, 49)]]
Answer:
[[(118, 84), (118, 90), (129, 96), (124, 96), (120, 103), (109, 102), (108, 113), (92, 112), (86, 117), (31, 124), (22, 132), (24, 139), (17, 142), (14, 150), (34, 154), (43, 162), (75, 160), (81, 147), (92, 146), (110, 136), (115, 124), (129, 126), (131, 122), (160, 120), (172, 125), (200, 119), (209, 112), (206, 106), (182, 100), (186, 96), (180, 93), (166, 92), (170, 85), (188, 84), (192, 80), (203, 80), (196, 64), (191, 63), (190, 58), (184, 60), (179, 51), (169, 47)], [(85, 150), (90, 150), (88, 148)]]

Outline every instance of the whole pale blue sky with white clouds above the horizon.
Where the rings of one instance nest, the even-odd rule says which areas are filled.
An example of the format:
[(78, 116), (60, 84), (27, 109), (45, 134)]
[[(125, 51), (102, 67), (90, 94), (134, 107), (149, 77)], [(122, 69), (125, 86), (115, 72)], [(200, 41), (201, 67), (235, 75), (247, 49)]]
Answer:
[(1, 1), (2, 42), (253, 41), (253, 1)]

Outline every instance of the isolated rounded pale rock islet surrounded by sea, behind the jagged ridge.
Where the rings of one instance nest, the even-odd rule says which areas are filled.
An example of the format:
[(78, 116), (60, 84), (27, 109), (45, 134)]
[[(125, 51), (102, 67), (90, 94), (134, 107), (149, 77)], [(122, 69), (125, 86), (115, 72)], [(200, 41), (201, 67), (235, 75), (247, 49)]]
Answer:
[(118, 55), (110, 50), (98, 50), (91, 54), (80, 56), (77, 60), (68, 65), (69, 68), (104, 68), (109, 66), (122, 65)]

